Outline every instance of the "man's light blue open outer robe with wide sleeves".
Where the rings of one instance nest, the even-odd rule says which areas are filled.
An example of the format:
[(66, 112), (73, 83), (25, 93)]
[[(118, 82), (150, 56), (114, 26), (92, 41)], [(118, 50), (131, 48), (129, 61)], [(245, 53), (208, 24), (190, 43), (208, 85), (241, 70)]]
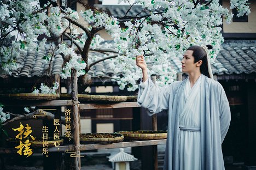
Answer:
[[(230, 125), (229, 102), (219, 82), (205, 75), (201, 76), (201, 168), (225, 169), (222, 142)], [(149, 115), (168, 110), (168, 135), (164, 162), (166, 170), (179, 170), (179, 113), (181, 113), (181, 108), (178, 105), (181, 94), (184, 93), (185, 82), (185, 80), (175, 81), (158, 88), (151, 80), (147, 80), (139, 85), (137, 103), (146, 108)]]

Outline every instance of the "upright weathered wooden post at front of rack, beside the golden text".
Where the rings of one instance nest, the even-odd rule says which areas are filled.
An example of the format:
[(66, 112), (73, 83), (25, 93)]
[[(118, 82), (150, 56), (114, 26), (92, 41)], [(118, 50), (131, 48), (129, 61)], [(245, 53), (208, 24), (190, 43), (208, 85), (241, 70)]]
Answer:
[(71, 70), (71, 87), (72, 87), (72, 112), (73, 112), (73, 139), (74, 148), (77, 157), (74, 157), (74, 168), (75, 170), (81, 169), (80, 162), (80, 131), (79, 131), (79, 117), (78, 117), (78, 94), (77, 94), (77, 70)]

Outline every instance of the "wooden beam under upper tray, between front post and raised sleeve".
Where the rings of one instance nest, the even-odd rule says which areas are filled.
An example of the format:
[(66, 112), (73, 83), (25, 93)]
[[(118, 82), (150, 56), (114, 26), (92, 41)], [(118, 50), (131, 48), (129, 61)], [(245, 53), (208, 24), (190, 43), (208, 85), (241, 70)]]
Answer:
[(98, 108), (123, 108), (123, 107), (140, 107), (137, 102), (120, 102), (115, 104), (79, 104), (80, 110), (98, 109)]

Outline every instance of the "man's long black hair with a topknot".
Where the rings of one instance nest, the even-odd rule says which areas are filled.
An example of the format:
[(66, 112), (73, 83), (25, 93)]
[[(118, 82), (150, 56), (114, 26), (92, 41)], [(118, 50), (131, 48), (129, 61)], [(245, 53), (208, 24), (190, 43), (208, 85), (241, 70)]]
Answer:
[[(206, 45), (208, 50), (212, 49), (212, 45)], [(208, 62), (207, 62), (207, 53), (203, 48), (199, 45), (193, 45), (188, 47), (187, 50), (193, 51), (192, 56), (194, 57), (194, 63), (198, 62), (200, 59), (202, 60), (202, 65), (200, 66), (201, 74), (210, 77), (209, 70), (208, 70)]]

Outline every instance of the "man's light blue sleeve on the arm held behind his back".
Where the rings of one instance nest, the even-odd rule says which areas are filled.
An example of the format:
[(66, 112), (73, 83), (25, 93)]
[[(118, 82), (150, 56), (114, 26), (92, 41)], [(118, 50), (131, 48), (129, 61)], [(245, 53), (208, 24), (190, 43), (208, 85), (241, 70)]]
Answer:
[(220, 120), (220, 135), (222, 142), (228, 132), (230, 121), (231, 121), (231, 113), (229, 107), (228, 98), (226, 98), (226, 94), (224, 89), (221, 90), (221, 97), (220, 97), (220, 105), (219, 105), (219, 120)]

